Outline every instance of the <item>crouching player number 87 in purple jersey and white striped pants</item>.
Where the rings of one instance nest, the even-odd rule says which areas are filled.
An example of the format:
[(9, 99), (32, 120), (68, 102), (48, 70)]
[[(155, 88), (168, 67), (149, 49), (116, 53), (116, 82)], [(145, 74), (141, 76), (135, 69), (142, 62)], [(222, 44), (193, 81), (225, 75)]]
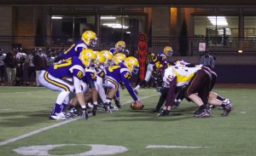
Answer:
[[(82, 107), (82, 117), (88, 119), (88, 113), (84, 102), (81, 86), (84, 86), (82, 78), (85, 76), (84, 69), (90, 67), (96, 60), (96, 54), (92, 49), (84, 49), (79, 57), (74, 56), (60, 64), (49, 66), (39, 76), (39, 82), (49, 90), (61, 91), (55, 101), (55, 107), (49, 114), (49, 118), (55, 120), (66, 119), (63, 111), (69, 102), (69, 94), (75, 90), (79, 104)], [(85, 69), (86, 70), (86, 69)], [(65, 81), (63, 78), (72, 78)]]

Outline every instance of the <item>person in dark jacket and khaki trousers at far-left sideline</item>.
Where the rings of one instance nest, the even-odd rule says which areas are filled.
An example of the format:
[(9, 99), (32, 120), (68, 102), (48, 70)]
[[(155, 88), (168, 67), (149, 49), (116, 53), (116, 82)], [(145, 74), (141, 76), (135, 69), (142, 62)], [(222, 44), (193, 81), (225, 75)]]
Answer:
[(11, 49), (9, 53), (5, 56), (3, 60), (6, 66), (6, 72), (8, 77), (9, 85), (15, 85), (15, 78), (16, 78), (16, 55), (15, 49)]

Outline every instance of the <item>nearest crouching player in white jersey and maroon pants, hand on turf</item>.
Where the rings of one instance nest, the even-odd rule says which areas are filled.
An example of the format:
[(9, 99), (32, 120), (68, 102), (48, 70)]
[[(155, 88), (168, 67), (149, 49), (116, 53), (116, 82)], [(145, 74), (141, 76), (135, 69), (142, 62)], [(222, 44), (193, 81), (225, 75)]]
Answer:
[(168, 90), (165, 107), (159, 116), (165, 116), (170, 113), (175, 96), (177, 95), (177, 87), (183, 85), (186, 85), (183, 90), (185, 97), (189, 101), (193, 101), (199, 107), (195, 112), (196, 118), (210, 116), (207, 103), (223, 105), (225, 107), (224, 116), (228, 115), (233, 109), (230, 103), (218, 101), (215, 98), (208, 99), (211, 90), (212, 75), (204, 67), (170, 66), (166, 69), (163, 80), (170, 88)]

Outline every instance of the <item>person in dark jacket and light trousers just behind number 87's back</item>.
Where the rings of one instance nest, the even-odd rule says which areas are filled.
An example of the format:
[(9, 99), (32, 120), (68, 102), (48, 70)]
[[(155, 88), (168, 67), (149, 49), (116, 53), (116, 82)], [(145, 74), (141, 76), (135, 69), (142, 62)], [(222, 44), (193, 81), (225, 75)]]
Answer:
[(47, 67), (47, 58), (43, 53), (43, 49), (38, 49), (37, 54), (33, 58), (33, 64), (36, 70), (36, 86), (39, 87), (38, 76)]

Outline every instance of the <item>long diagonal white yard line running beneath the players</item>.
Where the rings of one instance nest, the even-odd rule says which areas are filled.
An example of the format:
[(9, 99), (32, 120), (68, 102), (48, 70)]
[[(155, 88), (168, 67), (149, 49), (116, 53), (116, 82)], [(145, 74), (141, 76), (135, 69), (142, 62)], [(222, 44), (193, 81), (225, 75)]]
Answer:
[[(159, 94), (155, 94), (155, 95), (159, 95)], [(142, 99), (147, 99), (148, 97), (151, 97), (151, 96), (154, 96), (154, 95), (145, 96), (145, 97), (143, 97), (143, 98), (140, 98), (140, 100), (142, 100)], [(126, 101), (123, 105), (125, 105), (125, 104), (127, 104), (127, 103), (130, 103), (130, 102), (132, 102), (132, 101)], [(44, 127), (44, 128), (42, 128), (42, 129), (39, 129), (39, 130), (34, 130), (34, 131), (30, 132), (30, 133), (26, 133), (25, 135), (15, 137), (15, 138), (9, 139), (9, 140), (4, 141), (4, 142), (0, 142), (0, 146), (9, 144), (9, 143), (11, 143), (11, 142), (19, 141), (19, 140), (24, 139), (24, 138), (26, 138), (26, 137), (33, 136), (33, 135), (38, 134), (38, 133), (41, 133), (41, 132), (43, 132), (43, 131), (45, 131), (45, 130), (49, 130), (49, 129), (55, 128), (55, 127), (60, 126), (60, 125), (62, 125), (62, 124), (67, 124), (67, 123), (73, 122), (73, 121), (78, 120), (78, 119), (79, 119), (79, 118), (72, 118), (72, 119), (68, 119), (68, 120), (63, 121), (63, 122), (58, 123), (58, 124), (53, 124), (53, 125), (50, 125), (50, 126), (48, 126), (48, 127)]]

